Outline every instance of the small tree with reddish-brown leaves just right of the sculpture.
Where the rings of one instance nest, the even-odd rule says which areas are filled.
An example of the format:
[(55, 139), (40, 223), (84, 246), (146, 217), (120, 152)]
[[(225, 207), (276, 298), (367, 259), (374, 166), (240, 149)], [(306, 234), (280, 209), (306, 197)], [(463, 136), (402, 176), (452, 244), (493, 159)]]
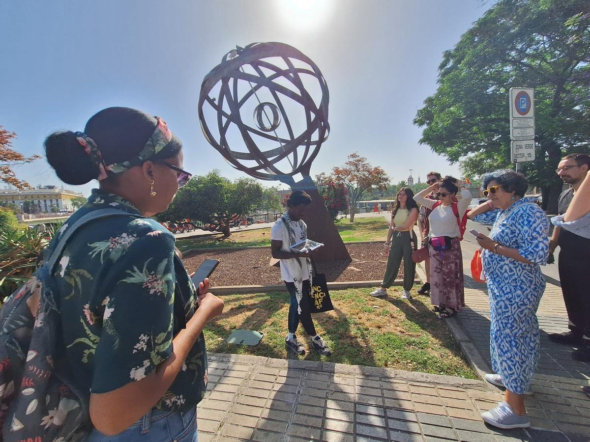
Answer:
[(322, 179), (330, 179), (335, 183), (343, 183), (348, 189), (350, 202), (350, 222), (355, 222), (356, 203), (373, 189), (386, 189), (389, 177), (382, 167), (373, 167), (365, 157), (353, 152), (348, 156), (343, 167), (334, 167), (332, 174), (326, 176), (322, 173), (316, 176)]

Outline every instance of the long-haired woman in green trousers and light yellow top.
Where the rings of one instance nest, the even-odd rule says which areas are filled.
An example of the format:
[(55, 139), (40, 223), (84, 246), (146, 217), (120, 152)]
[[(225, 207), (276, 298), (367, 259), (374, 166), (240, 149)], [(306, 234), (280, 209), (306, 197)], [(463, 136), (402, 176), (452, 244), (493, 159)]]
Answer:
[(391, 213), (391, 223), (387, 231), (385, 255), (388, 256), (387, 268), (381, 286), (371, 296), (385, 296), (387, 289), (398, 276), (399, 265), (404, 259), (404, 294), (402, 299), (411, 299), (409, 291), (414, 285), (415, 263), (412, 261), (412, 230), (418, 217), (418, 204), (414, 201), (414, 192), (409, 187), (402, 187), (395, 196), (395, 206)]

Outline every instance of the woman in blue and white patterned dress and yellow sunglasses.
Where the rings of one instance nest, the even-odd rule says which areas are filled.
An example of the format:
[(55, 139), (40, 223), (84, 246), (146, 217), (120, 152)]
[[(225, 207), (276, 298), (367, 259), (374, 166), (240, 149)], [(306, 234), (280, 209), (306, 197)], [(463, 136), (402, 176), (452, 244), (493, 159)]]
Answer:
[[(528, 183), (513, 170), (484, 175), (489, 201), (468, 213), (473, 220), (491, 223), (490, 236), (477, 242), (484, 249), (483, 271), (490, 296), (490, 352), (496, 374), (486, 375), (506, 387), (504, 401), (481, 415), (499, 428), (529, 427), (524, 394), (539, 359), (536, 311), (545, 290), (539, 265), (549, 255), (549, 223), (537, 204), (523, 199)], [(499, 210), (494, 210), (499, 209)]]

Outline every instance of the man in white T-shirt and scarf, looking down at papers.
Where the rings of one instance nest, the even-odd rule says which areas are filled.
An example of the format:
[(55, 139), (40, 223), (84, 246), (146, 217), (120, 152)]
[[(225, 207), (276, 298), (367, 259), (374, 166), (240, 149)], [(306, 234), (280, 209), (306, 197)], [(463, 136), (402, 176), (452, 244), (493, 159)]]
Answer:
[(303, 190), (295, 190), (287, 199), (287, 212), (283, 213), (271, 230), (271, 253), (280, 259), (281, 278), (291, 295), (289, 306), (289, 334), (285, 344), (296, 354), (305, 354), (305, 347), (295, 332), (299, 322), (312, 337), (313, 348), (320, 355), (332, 354), (326, 342), (316, 333), (312, 314), (309, 311), (309, 293), (312, 289), (312, 266), (310, 252), (293, 252), (290, 246), (307, 239), (307, 225), (301, 220), (312, 197)]

